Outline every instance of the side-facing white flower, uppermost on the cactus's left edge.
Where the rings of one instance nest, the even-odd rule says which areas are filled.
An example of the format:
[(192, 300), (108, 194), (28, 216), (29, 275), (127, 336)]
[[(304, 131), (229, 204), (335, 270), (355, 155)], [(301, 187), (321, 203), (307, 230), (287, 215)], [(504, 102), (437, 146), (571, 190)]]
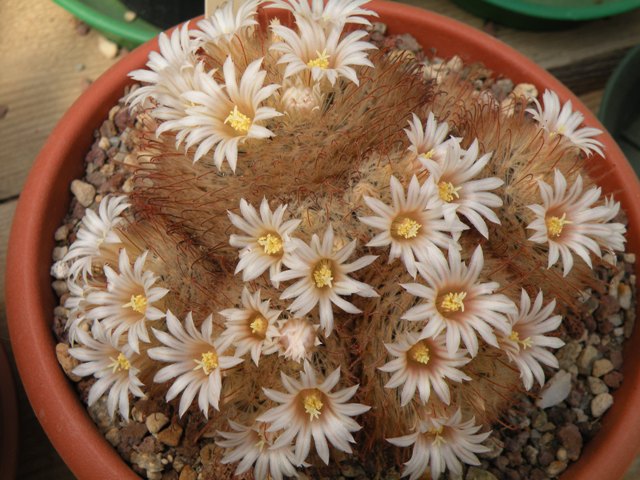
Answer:
[(70, 262), (69, 278), (75, 279), (82, 274), (86, 280), (92, 273), (95, 260), (102, 257), (105, 252), (112, 253), (121, 245), (120, 237), (115, 227), (122, 224), (122, 213), (129, 208), (125, 195), (107, 195), (100, 201), (98, 213), (87, 209), (82, 224), (78, 229), (76, 240), (69, 247), (64, 256), (64, 262)]

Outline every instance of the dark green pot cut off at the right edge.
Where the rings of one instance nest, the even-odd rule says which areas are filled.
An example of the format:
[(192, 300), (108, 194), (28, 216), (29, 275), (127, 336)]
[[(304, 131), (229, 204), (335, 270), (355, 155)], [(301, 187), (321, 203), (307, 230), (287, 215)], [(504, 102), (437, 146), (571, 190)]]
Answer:
[(640, 45), (622, 59), (607, 82), (598, 117), (640, 176)]

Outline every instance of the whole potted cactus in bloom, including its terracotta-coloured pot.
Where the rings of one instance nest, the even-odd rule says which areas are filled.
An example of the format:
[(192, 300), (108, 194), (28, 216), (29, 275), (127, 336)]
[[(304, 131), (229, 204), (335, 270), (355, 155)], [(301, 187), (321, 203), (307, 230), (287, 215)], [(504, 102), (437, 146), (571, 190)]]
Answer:
[[(76, 184), (53, 270), (66, 286), (58, 353), (99, 429), (53, 360), (51, 245), (34, 240), (61, 223), (64, 205), (45, 211), (77, 176), (89, 132), (53, 137), (16, 215), (35, 222), (12, 233), (12, 341), (74, 472), (132, 476), (107, 440), (148, 478), (536, 478), (578, 460), (569, 440), (595, 435), (587, 427), (611, 407), (607, 355), (620, 355), (625, 328), (590, 325), (589, 306), (610, 301), (613, 282), (618, 307), (623, 287), (631, 302), (622, 254), (640, 225), (628, 208), (637, 181), (597, 121), (508, 47), (410, 7), (227, 3), (197, 27), (123, 60), (56, 132), (98, 127), (125, 75), (142, 83), (123, 100), (127, 140), (113, 143), (130, 150), (127, 187), (84, 211)], [(501, 97), (496, 75), (518, 87)], [(62, 165), (75, 170), (52, 173)], [(607, 319), (630, 333), (633, 308)], [(627, 353), (569, 477), (619, 475), (634, 453)], [(591, 381), (588, 406), (570, 396), (579, 375), (605, 385)], [(545, 433), (562, 427), (559, 440), (536, 438), (519, 408)], [(557, 458), (543, 460), (553, 442)], [(610, 442), (627, 448), (615, 457)], [(536, 445), (535, 462), (507, 454)]]

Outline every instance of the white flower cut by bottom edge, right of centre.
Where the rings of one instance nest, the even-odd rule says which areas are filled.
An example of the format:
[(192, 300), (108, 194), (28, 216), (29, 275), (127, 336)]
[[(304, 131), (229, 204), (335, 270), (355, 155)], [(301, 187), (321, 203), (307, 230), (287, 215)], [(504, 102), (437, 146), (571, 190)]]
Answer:
[(475, 425), (475, 418), (463, 422), (462, 412), (458, 409), (451, 417), (422, 420), (414, 433), (387, 441), (398, 447), (413, 445), (403, 477), (409, 475), (409, 480), (417, 480), (430, 470), (431, 478), (436, 479), (447, 469), (459, 477), (462, 475), (462, 463), (480, 465), (476, 454), (490, 450), (482, 442), (491, 432), (478, 433), (480, 428)]

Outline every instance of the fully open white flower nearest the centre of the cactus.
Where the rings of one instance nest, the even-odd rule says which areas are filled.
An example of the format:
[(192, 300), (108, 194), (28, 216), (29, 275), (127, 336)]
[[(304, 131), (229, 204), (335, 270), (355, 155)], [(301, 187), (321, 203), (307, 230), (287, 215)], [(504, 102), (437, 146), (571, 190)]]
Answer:
[(299, 280), (282, 292), (280, 298), (295, 298), (289, 310), (296, 316), (306, 315), (319, 305), (320, 326), (328, 336), (333, 330), (332, 304), (347, 313), (362, 313), (362, 310), (342, 297), (353, 294), (361, 297), (378, 295), (371, 286), (349, 276), (350, 273), (370, 265), (378, 257), (365, 255), (354, 262), (345, 263), (355, 251), (356, 241), (334, 251), (331, 225), (325, 231), (322, 242), (315, 234), (310, 245), (297, 238), (292, 241), (295, 250), (283, 258), (289, 270), (279, 273), (274, 278), (283, 282)]

